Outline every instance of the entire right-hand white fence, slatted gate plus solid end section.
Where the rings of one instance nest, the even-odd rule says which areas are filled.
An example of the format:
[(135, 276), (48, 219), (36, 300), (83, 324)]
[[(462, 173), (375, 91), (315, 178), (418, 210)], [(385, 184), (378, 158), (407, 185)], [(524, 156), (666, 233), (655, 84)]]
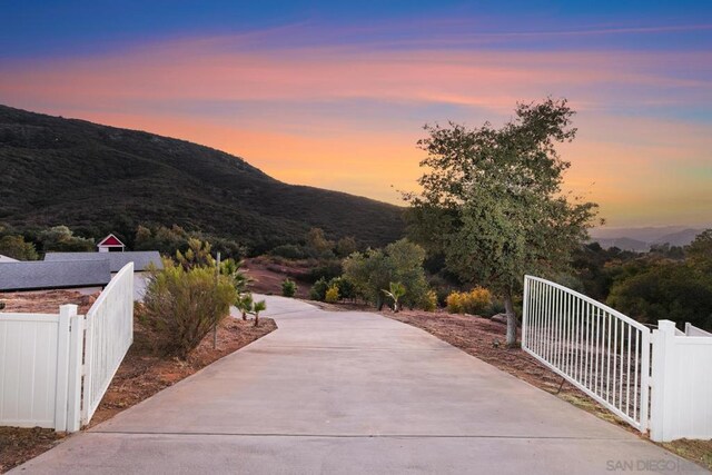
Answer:
[(712, 438), (712, 334), (646, 326), (525, 276), (522, 347), (653, 441)]

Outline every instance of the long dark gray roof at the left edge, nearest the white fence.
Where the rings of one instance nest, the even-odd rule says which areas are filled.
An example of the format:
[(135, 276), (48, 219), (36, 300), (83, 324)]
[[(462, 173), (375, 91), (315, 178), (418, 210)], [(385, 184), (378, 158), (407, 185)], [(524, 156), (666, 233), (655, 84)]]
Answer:
[(105, 286), (111, 280), (108, 260), (0, 264), (0, 291)]

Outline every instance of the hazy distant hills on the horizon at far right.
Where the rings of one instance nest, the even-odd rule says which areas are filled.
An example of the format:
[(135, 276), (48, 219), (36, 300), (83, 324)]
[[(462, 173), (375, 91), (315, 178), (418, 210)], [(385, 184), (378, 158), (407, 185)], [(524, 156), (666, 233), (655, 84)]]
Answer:
[(603, 248), (617, 247), (623, 250), (646, 253), (653, 245), (686, 246), (703, 230), (704, 228), (693, 229), (681, 226), (599, 228), (591, 231), (591, 240), (597, 241)]

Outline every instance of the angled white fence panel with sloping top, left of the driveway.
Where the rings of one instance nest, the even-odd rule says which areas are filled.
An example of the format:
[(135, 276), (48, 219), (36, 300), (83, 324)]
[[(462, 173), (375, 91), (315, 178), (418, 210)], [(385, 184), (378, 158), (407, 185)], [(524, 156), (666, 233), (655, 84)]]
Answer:
[(113, 276), (87, 313), (82, 424), (89, 424), (134, 343), (134, 263)]

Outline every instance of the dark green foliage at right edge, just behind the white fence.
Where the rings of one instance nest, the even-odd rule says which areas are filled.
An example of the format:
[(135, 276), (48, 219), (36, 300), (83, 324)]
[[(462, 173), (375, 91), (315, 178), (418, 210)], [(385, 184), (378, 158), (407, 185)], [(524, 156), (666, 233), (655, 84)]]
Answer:
[(625, 276), (606, 303), (639, 321), (690, 321), (712, 330), (712, 277), (696, 275), (685, 264), (656, 264)]

